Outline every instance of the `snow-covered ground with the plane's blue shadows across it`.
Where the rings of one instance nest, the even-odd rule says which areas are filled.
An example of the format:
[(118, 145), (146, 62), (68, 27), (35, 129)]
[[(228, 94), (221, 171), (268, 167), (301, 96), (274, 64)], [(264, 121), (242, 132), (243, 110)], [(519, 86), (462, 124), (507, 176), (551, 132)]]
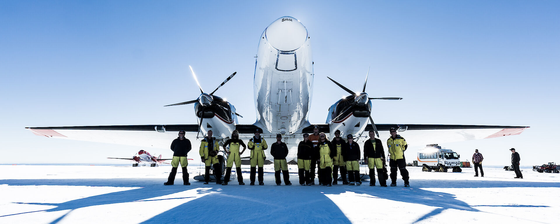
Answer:
[[(365, 171), (365, 167), (362, 167)], [(0, 165), (0, 223), (557, 223), (560, 174), (486, 167), (461, 173), (408, 167), (410, 188), (334, 185), (164, 186), (170, 166)], [(290, 165), (292, 172), (297, 167)], [(273, 166), (265, 166), (273, 171)], [(400, 177), (400, 176), (399, 176)], [(340, 183), (340, 181), (339, 181)], [(458, 222), (459, 221), (459, 222)]]

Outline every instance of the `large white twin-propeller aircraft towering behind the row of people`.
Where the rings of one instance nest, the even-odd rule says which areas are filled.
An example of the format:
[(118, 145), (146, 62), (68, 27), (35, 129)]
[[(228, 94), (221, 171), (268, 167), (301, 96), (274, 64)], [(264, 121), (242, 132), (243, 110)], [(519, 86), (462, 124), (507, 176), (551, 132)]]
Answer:
[[(196, 80), (192, 68), (191, 72)], [(315, 75), (311, 57), (311, 41), (307, 29), (295, 18), (284, 16), (272, 22), (261, 35), (254, 76), (254, 99), (257, 112), (254, 124), (239, 124), (237, 116), (241, 115), (235, 113), (234, 105), (213, 95), (235, 74), (235, 72), (231, 74), (209, 94), (202, 90), (197, 80), (201, 92), (198, 99), (172, 104), (194, 104), (198, 124), (35, 127), (29, 129), (39, 136), (156, 148), (169, 147), (179, 130), (184, 130), (185, 137), (191, 140), (203, 137), (207, 130), (212, 130), (213, 136), (223, 143), (230, 138), (233, 130), (237, 129), (240, 138), (247, 142), (258, 129), (262, 133), (261, 136), (268, 139), (270, 144), (275, 141), (276, 134), (281, 133), (283, 141), (290, 148), (287, 160), (293, 164), (297, 160), (297, 144), (302, 140), (301, 134), (312, 133), (314, 126), (308, 121)], [(369, 130), (374, 130), (378, 137), (380, 132), (383, 136), (389, 136), (389, 129), (396, 128), (399, 132), (407, 132), (405, 137), (410, 145), (423, 146), (433, 142), (445, 143), (511, 136), (520, 134), (524, 129), (529, 128), (487, 125), (375, 124), (371, 118), (371, 100), (400, 100), (401, 98), (369, 97), (366, 93), (367, 74), (362, 92), (353, 92), (340, 83), (332, 81), (350, 95), (330, 106), (326, 124), (316, 124), (320, 128), (320, 132), (325, 132), (328, 137), (333, 136), (337, 129), (342, 133), (340, 136), (352, 134), (361, 137), (363, 132)], [(360, 139), (363, 141), (365, 138)], [(196, 148), (196, 144), (193, 145)], [(192, 151), (194, 152), (190, 156), (198, 153), (198, 150)], [(268, 150), (265, 153), (268, 158), (272, 158)]]

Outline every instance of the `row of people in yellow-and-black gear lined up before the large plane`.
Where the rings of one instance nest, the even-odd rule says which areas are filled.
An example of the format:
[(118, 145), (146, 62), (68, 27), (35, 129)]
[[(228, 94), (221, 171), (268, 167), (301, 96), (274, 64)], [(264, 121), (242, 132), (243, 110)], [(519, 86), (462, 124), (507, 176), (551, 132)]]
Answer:
[[(404, 181), (404, 186), (409, 186), (409, 176), (406, 169), (406, 161), (404, 151), (407, 150), (407, 141), (398, 134), (396, 129), (391, 128), (391, 137), (387, 139), (387, 147), (389, 153), (389, 166), (391, 186), (396, 186), (397, 170)], [(347, 141), (340, 137), (340, 130), (334, 132), (334, 138), (329, 141), (325, 133), (319, 133), (319, 127), (315, 125), (312, 134), (303, 134), (304, 141), (301, 141), (297, 147), (297, 168), (300, 185), (315, 185), (315, 171), (320, 185), (332, 186), (338, 184), (338, 174), (342, 179), (342, 184), (361, 185), (360, 175), (360, 145), (356, 143), (352, 134), (348, 134)], [(383, 143), (380, 139), (375, 138), (374, 131), (369, 132), (370, 139), (363, 143), (363, 158), (367, 161), (370, 175), (377, 176), (380, 186), (387, 186), (386, 180), (389, 179), (386, 169), (386, 157)], [(235, 163), (237, 181), (239, 185), (245, 185), (241, 172), (241, 154), (246, 148), (250, 150), (250, 185), (255, 185), (258, 173), (258, 184), (264, 185), (264, 150), (268, 149), (267, 141), (260, 136), (260, 130), (256, 129), (253, 138), (249, 139), (247, 145), (239, 139), (237, 130), (223, 144), (223, 150), (228, 154), (226, 162), (226, 174), (222, 181), (221, 167), (218, 160), (218, 151), (220, 146), (216, 138), (212, 137), (212, 130), (208, 130), (206, 138), (200, 142), (199, 155), (204, 163), (204, 184), (208, 184), (210, 180), (210, 170), (213, 166), (216, 184), (227, 185), (230, 181), (232, 167)], [(243, 148), (240, 152), (241, 147)], [(191, 150), (189, 139), (185, 138), (185, 132), (181, 130), (179, 137), (171, 143), (173, 151), (173, 159), (171, 161), (171, 172), (169, 178), (164, 185), (173, 185), (175, 175), (179, 165), (183, 169), (183, 184), (190, 185), (189, 174), (186, 171), (188, 165), (186, 155)], [(277, 185), (292, 185), (288, 172), (286, 156), (288, 155), (288, 147), (282, 142), (282, 135), (277, 134), (276, 142), (270, 146), (270, 155), (274, 160), (274, 177)], [(347, 178), (348, 176), (348, 178)], [(371, 178), (370, 186), (375, 186), (375, 179)]]

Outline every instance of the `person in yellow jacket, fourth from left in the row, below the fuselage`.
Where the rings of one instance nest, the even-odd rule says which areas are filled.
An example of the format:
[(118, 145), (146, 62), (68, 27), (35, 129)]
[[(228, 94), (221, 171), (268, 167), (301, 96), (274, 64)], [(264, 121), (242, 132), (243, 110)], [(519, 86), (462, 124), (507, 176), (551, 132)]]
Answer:
[(249, 139), (247, 143), (247, 147), (251, 150), (251, 174), (249, 178), (251, 179), (250, 185), (255, 185), (255, 173), (256, 173), (256, 166), (259, 166), (259, 185), (264, 185), (264, 159), (266, 156), (264, 155), (264, 150), (267, 150), (267, 141), (264, 141), (264, 138), (260, 137), (260, 130), (255, 130), (255, 136)]

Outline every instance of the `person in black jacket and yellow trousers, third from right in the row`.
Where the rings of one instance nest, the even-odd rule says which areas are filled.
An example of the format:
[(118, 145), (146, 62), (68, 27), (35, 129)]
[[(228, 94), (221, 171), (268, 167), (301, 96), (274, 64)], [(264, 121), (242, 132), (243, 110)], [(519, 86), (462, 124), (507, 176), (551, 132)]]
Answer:
[(342, 156), (344, 156), (344, 161), (346, 161), (346, 169), (348, 170), (348, 185), (358, 185), (362, 184), (362, 179), (360, 178), (360, 145), (354, 142), (354, 137), (352, 134), (346, 136), (348, 138), (348, 143), (346, 143), (346, 148), (344, 148)]

